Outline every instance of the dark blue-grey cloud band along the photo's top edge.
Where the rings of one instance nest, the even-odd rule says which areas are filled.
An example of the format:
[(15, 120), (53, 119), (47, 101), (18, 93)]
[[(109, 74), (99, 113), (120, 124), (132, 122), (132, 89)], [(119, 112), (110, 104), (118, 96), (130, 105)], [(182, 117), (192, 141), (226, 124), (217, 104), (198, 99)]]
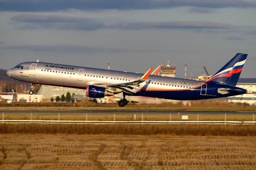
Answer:
[(246, 0), (0, 0), (0, 11), (59, 11), (79, 10), (132, 10), (172, 7), (255, 8), (256, 3)]

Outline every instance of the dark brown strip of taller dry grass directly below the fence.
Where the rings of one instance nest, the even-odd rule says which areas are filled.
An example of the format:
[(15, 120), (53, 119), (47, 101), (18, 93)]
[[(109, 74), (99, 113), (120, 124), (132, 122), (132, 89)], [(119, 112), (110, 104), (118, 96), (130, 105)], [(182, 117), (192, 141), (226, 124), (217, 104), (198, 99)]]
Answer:
[(0, 134), (124, 134), (124, 135), (218, 135), (256, 136), (253, 125), (193, 125), (193, 124), (38, 124), (0, 123)]

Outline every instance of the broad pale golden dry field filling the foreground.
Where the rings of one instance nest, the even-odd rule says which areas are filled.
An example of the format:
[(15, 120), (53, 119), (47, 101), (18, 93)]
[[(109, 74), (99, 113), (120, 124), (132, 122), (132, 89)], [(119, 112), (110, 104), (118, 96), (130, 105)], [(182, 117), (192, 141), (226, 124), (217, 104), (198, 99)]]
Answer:
[(256, 169), (256, 137), (0, 134), (0, 169)]

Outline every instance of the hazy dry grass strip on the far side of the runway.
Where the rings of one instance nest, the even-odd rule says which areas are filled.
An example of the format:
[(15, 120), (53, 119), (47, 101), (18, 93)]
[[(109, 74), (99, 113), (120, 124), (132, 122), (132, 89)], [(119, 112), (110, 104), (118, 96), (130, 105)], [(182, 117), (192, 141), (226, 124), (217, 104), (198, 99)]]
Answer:
[[(255, 112), (256, 106), (244, 103), (228, 103), (227, 100), (193, 100), (191, 101), (192, 111), (241, 111)], [(125, 107), (119, 107), (114, 104), (96, 104), (92, 101), (83, 99), (77, 103), (63, 102), (41, 102), (41, 103), (25, 103), (25, 102), (0, 102), (1, 111), (58, 111), (58, 110), (136, 110), (136, 111), (180, 111), (182, 109), (181, 102), (146, 104), (146, 103), (129, 103)], [(187, 108), (188, 109), (188, 108)]]

